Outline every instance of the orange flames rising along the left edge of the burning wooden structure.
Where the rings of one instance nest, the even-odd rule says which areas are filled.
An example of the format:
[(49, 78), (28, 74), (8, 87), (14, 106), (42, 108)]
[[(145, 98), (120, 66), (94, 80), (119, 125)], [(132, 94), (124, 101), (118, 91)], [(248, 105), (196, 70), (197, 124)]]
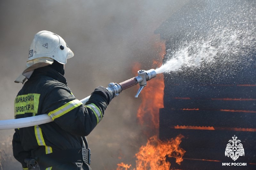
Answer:
[[(161, 62), (154, 60), (153, 68), (160, 67), (165, 55), (165, 42), (157, 42), (154, 46), (159, 52)], [(141, 69), (139, 63), (134, 63), (133, 73)], [(171, 163), (166, 161), (167, 157), (176, 158), (176, 163), (180, 164), (183, 161), (182, 157), (186, 152), (180, 148), (182, 135), (172, 138), (168, 141), (161, 141), (157, 139), (159, 131), (159, 109), (164, 107), (164, 77), (163, 74), (157, 76), (147, 82), (148, 85), (140, 93), (141, 104), (137, 112), (137, 118), (141, 125), (147, 126), (150, 135), (154, 136), (148, 138), (146, 145), (142, 145), (139, 152), (135, 154), (136, 170), (170, 169)], [(117, 164), (117, 170), (127, 170), (131, 168), (131, 164), (120, 163)], [(135, 168), (133, 169), (135, 170)]]

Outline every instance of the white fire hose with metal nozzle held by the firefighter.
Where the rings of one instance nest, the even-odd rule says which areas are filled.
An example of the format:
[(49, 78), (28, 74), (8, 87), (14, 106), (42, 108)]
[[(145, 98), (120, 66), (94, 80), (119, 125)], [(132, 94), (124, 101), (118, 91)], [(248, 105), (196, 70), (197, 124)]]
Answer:
[[(155, 69), (150, 70), (139, 70), (138, 76), (123, 81), (119, 84), (117, 83), (109, 83), (106, 89), (111, 90), (115, 96), (118, 96), (122, 90), (128, 89), (136, 84), (140, 85), (140, 88), (135, 95), (135, 98), (138, 98), (141, 90), (147, 86), (147, 81), (151, 80), (152, 78), (156, 77)], [(84, 99), (80, 100), (84, 105), (89, 100), (90, 96), (85, 97)], [(35, 126), (39, 124), (45, 124), (52, 122), (52, 118), (49, 117), (47, 114), (32, 116), (32, 117), (24, 117), (19, 119), (9, 119), (9, 120), (0, 120), (0, 130), (6, 129), (16, 129), (16, 128), (24, 128), (29, 126)]]

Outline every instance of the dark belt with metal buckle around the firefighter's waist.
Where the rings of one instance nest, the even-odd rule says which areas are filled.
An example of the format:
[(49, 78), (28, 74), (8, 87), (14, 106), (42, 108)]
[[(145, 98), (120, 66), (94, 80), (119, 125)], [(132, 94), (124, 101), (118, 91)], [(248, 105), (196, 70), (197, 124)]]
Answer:
[(52, 152), (49, 154), (36, 157), (40, 168), (58, 166), (66, 163), (83, 160), (87, 164), (91, 164), (91, 150), (85, 148), (67, 149)]

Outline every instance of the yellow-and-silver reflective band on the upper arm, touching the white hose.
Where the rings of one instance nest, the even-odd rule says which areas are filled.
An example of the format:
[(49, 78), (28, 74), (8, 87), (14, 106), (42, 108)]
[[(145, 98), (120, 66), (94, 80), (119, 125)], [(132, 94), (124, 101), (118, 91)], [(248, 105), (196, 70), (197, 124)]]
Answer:
[(63, 106), (60, 106), (58, 109), (55, 109), (51, 112), (48, 113), (48, 116), (50, 116), (52, 118), (52, 120), (68, 113), (70, 110), (75, 109), (76, 107), (82, 105), (83, 103), (81, 103), (79, 100), (72, 100), (66, 104), (64, 104)]

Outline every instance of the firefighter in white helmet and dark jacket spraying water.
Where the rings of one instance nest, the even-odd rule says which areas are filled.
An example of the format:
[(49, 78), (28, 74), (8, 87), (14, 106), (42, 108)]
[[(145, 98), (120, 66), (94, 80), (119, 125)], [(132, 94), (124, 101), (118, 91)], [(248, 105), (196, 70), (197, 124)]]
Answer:
[(27, 80), (14, 101), (15, 118), (48, 114), (53, 121), (15, 129), (13, 156), (23, 169), (91, 169), (85, 136), (102, 120), (114, 94), (99, 86), (85, 105), (77, 100), (64, 77), (64, 65), (73, 56), (49, 31), (36, 33), (30, 45), (26, 68), (15, 80)]

